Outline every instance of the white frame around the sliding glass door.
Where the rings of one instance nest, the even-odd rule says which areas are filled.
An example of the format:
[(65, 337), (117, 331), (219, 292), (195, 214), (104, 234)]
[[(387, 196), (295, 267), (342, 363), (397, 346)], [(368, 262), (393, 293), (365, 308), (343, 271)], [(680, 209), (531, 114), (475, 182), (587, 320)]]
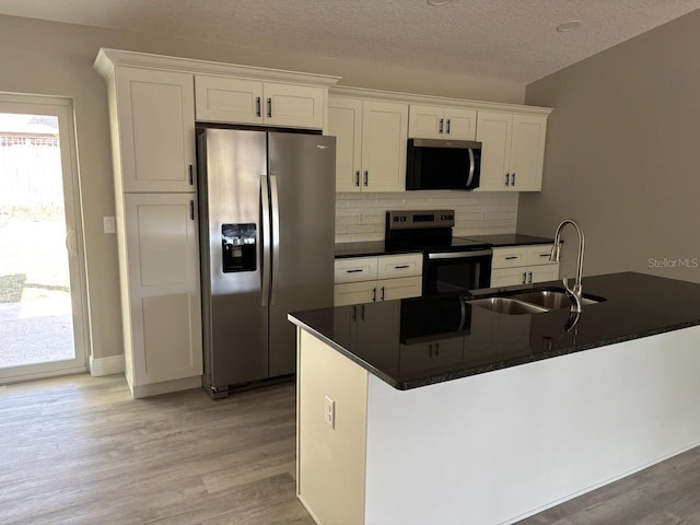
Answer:
[(58, 117), (67, 232), (66, 247), (69, 258), (73, 341), (75, 347), (75, 358), (69, 361), (0, 369), (0, 384), (85, 372), (88, 370), (88, 358), (92, 353), (92, 340), (73, 101), (70, 97), (0, 92), (0, 113)]

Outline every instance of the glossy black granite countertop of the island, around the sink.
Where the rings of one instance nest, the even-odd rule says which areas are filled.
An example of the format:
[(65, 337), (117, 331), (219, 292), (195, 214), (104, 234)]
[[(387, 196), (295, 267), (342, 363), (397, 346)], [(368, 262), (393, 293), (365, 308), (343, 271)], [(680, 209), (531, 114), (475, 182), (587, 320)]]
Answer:
[[(542, 288), (561, 282), (499, 292)], [(569, 331), (568, 308), (505, 315), (465, 302), (494, 290), (296, 312), (289, 319), (398, 389), (700, 325), (698, 283), (626, 272), (584, 277), (583, 290), (605, 301), (584, 305)]]

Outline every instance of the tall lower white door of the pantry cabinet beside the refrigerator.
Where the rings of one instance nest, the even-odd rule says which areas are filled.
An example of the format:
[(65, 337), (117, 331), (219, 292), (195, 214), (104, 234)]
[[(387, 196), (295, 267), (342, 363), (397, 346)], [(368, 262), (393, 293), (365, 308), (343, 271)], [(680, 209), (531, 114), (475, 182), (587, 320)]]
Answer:
[(124, 196), (126, 375), (135, 397), (201, 381), (196, 202), (196, 194)]

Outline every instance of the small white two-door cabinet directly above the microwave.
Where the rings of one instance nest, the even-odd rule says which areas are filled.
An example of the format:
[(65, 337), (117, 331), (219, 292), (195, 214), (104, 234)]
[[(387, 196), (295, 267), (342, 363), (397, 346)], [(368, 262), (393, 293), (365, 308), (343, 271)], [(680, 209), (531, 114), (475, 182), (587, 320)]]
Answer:
[(408, 137), (411, 139), (475, 140), (476, 109), (411, 104)]

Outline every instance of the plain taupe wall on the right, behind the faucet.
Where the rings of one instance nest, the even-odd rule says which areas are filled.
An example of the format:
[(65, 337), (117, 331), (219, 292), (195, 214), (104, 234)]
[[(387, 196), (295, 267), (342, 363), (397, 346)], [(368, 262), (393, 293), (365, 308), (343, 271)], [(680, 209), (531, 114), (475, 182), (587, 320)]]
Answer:
[(551, 235), (571, 217), (586, 233), (586, 275), (700, 282), (698, 49), (695, 11), (527, 86), (527, 104), (555, 110), (542, 191), (520, 198), (521, 233)]

